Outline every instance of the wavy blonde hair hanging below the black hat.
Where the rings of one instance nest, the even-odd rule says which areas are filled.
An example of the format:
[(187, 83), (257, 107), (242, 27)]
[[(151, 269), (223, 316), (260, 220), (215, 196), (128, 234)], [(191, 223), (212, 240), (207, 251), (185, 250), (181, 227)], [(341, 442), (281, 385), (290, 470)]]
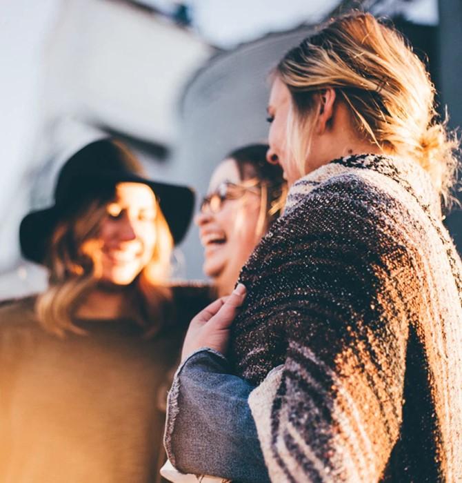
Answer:
[[(66, 331), (85, 334), (72, 318), (99, 277), (88, 250), (83, 247), (87, 242), (97, 243), (99, 226), (107, 216), (107, 202), (104, 199), (88, 202), (54, 229), (45, 262), (50, 270), (50, 284), (37, 298), (36, 312), (41, 326), (60, 337)], [(156, 243), (152, 259), (127, 290), (134, 319), (149, 335), (161, 328), (164, 302), (170, 298), (170, 290), (162, 284), (170, 272), (173, 239), (158, 204), (154, 224)]]

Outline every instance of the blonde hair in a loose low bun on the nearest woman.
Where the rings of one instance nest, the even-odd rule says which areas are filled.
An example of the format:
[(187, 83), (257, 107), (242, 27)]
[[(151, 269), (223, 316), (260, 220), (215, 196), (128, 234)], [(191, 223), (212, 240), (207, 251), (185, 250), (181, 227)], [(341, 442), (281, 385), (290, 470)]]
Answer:
[(437, 120), (435, 89), (423, 62), (394, 28), (350, 12), (290, 50), (274, 73), (291, 92), (288, 148), (302, 175), (310, 149), (306, 132), (315, 120), (313, 94), (334, 88), (365, 139), (417, 161), (448, 203), (459, 143)]

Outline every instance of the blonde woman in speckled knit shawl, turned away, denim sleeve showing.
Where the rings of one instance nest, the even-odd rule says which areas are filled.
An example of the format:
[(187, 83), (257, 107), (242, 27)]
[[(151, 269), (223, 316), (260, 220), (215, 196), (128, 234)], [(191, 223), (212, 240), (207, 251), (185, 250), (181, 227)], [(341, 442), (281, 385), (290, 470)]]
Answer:
[(457, 145), (423, 63), (347, 14), (281, 59), (268, 113), (285, 211), (243, 285), (192, 320), (170, 461), (242, 482), (461, 481), (462, 264), (441, 222)]

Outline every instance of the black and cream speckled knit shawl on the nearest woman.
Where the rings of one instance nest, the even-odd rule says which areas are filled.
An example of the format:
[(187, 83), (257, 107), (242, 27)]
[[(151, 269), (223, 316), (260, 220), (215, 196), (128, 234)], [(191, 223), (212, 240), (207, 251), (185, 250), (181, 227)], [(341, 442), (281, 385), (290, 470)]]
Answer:
[(461, 274), (415, 163), (345, 157), (292, 186), (231, 347), (272, 481), (462, 481)]

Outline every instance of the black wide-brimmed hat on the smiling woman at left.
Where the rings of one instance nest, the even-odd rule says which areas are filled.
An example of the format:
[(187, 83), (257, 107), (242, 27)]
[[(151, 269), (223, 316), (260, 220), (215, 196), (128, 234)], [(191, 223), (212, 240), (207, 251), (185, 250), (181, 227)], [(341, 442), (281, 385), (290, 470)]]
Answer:
[(118, 183), (149, 186), (179, 244), (192, 218), (194, 191), (187, 186), (159, 183), (143, 177), (139, 161), (119, 141), (100, 139), (76, 152), (59, 172), (54, 205), (33, 211), (21, 221), (19, 242), (23, 256), (43, 264), (50, 239), (59, 221), (75, 213), (91, 199), (110, 199)]

